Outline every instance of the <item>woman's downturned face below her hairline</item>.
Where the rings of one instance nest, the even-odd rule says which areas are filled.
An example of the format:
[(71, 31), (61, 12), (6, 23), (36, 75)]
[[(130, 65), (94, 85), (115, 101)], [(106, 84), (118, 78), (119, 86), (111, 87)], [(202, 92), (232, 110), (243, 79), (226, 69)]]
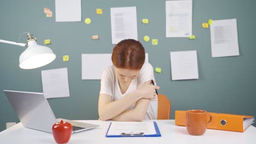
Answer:
[(120, 69), (115, 67), (117, 70), (118, 80), (123, 82), (131, 82), (131, 80), (138, 77), (140, 70), (131, 70), (131, 69)]

